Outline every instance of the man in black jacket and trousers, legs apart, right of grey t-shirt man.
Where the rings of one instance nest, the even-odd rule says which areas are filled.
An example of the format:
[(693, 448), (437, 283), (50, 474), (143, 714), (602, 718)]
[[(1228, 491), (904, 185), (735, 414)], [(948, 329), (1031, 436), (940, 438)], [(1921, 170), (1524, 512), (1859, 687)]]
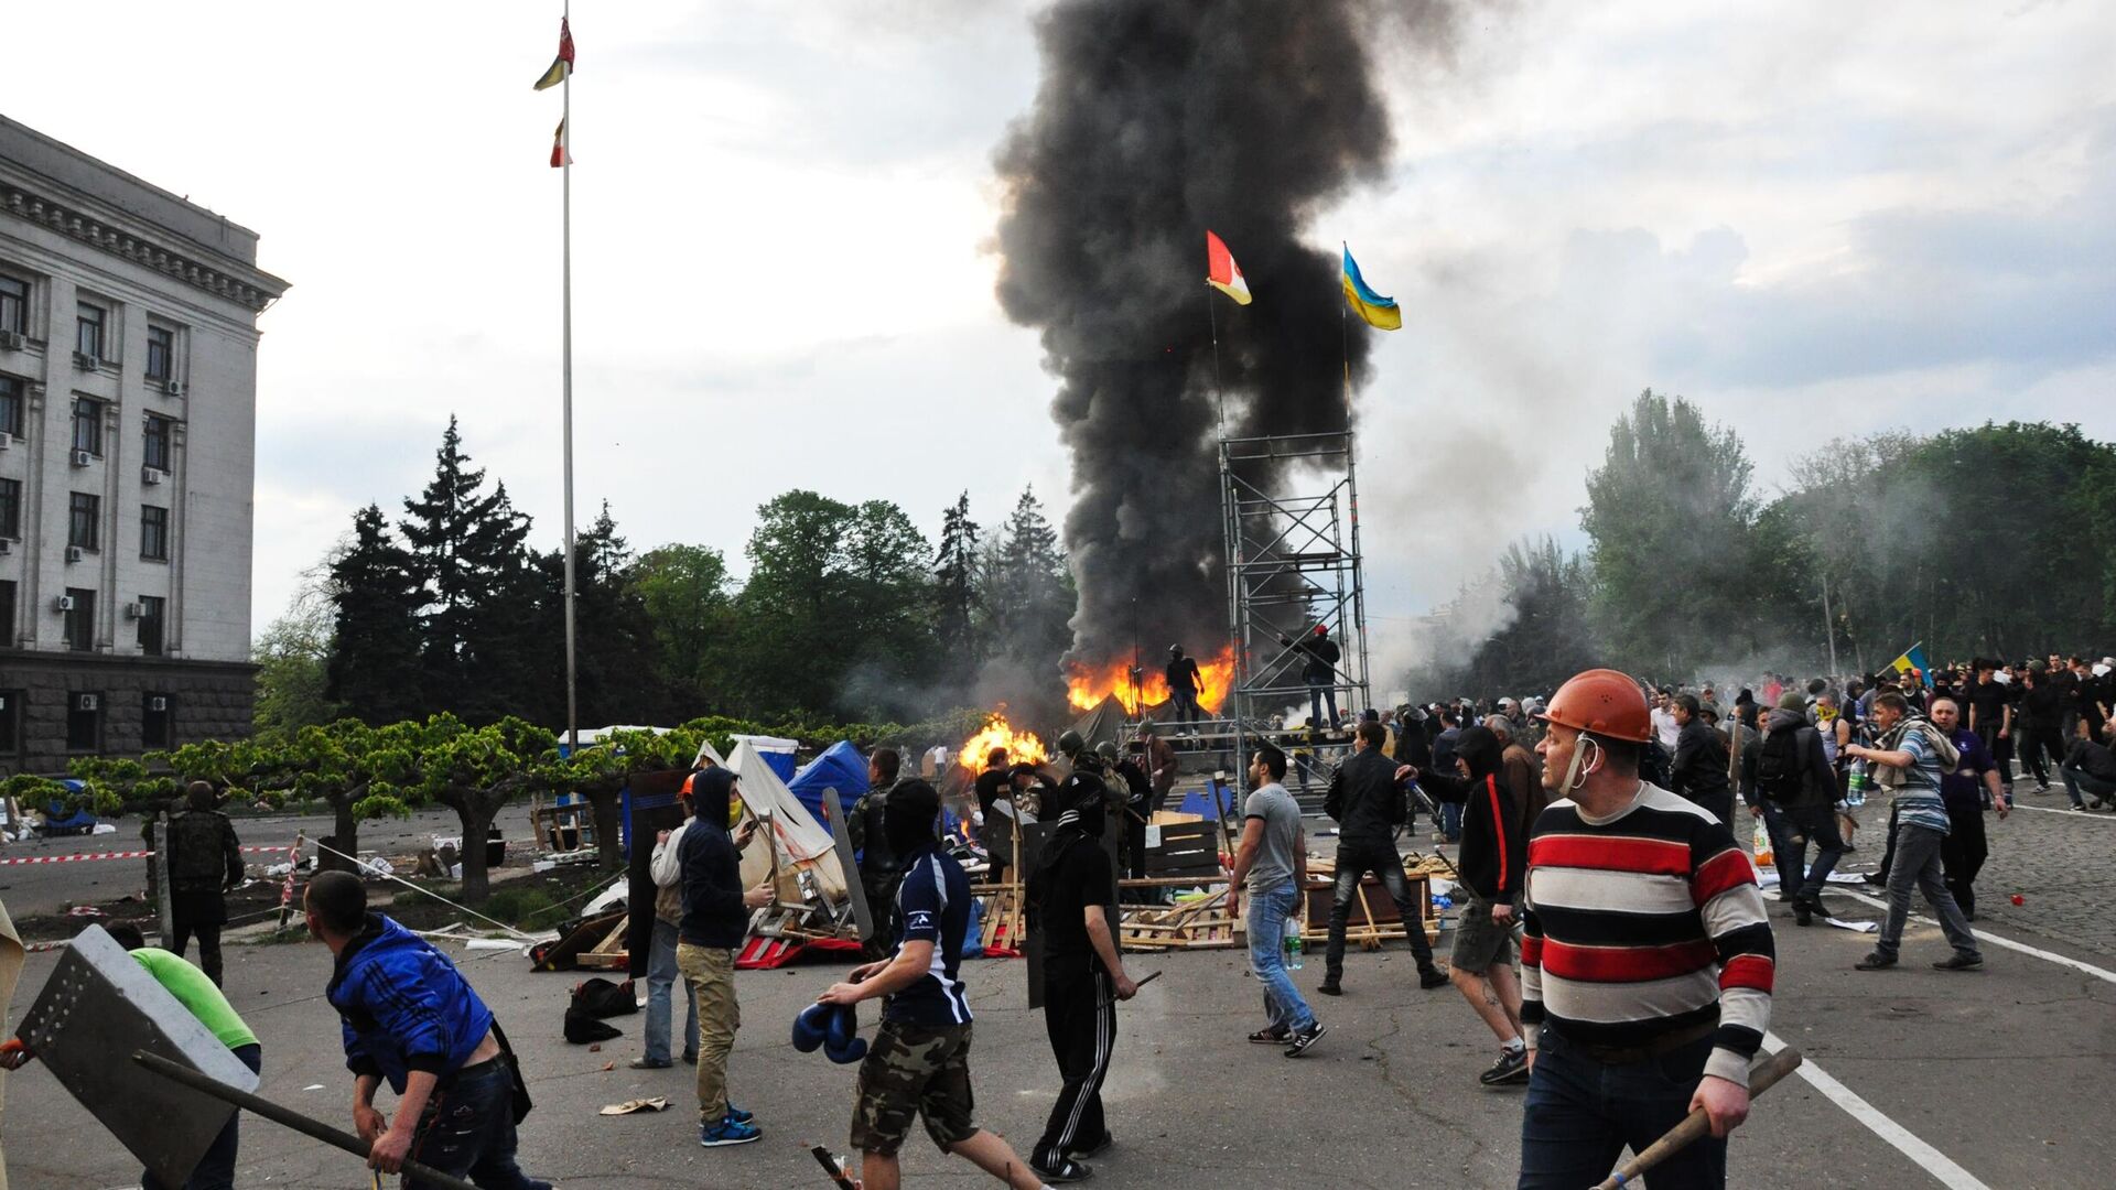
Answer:
[(1378, 722), (1358, 724), (1352, 756), (1329, 779), (1322, 811), (1337, 819), (1337, 891), (1329, 908), (1329, 953), (1322, 972), (1322, 995), (1344, 995), (1344, 927), (1352, 919), (1358, 885), (1373, 872), (1403, 915), (1403, 934), (1418, 957), (1418, 987), (1439, 987), (1447, 976), (1433, 966), (1433, 944), (1426, 942), (1424, 906), (1411, 904), (1403, 879), (1403, 858), (1397, 853), (1397, 828), (1403, 826), (1403, 783), (1397, 762), (1382, 754), (1388, 733)]

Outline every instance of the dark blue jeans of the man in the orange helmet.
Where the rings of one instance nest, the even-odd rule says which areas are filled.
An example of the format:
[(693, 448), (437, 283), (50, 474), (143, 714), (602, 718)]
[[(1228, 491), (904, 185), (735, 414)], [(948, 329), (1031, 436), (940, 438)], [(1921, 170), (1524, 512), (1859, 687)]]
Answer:
[[(1617, 1169), (1625, 1146), (1644, 1152), (1689, 1116), (1712, 1038), (1636, 1063), (1610, 1065), (1543, 1029), (1521, 1112), (1519, 1190), (1579, 1190)], [(1727, 1186), (1727, 1141), (1703, 1135), (1653, 1167), (1653, 1190)]]

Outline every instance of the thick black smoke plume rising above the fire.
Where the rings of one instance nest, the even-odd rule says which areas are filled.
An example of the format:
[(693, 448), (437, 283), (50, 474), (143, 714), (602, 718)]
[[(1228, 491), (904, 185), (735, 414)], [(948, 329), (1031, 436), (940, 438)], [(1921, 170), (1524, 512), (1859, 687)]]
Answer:
[[(1356, 385), (1371, 330), (1346, 332), (1337, 252), (1299, 235), (1388, 161), (1378, 40), (1445, 28), (1439, 4), (1337, 0), (1060, 0), (1039, 19), (1035, 108), (997, 152), (999, 301), (1060, 381), (1073, 656), (1225, 642), (1206, 301), (1232, 434), (1346, 428), (1346, 351)], [(1206, 229), (1253, 305), (1204, 286)]]

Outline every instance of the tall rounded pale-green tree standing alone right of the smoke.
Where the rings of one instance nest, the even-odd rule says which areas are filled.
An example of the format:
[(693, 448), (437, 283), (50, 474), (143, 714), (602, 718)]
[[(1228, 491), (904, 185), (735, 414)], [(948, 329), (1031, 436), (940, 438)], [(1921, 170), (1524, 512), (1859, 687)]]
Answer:
[(1729, 656), (1754, 557), (1750, 462), (1729, 428), (1646, 390), (1587, 476), (1595, 625), (1610, 661), (1663, 678)]

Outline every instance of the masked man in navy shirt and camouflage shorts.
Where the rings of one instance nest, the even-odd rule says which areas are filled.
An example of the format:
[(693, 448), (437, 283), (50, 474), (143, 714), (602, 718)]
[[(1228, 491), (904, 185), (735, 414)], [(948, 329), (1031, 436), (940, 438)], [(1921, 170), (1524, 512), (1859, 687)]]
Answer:
[[(855, 968), (823, 1004), (882, 1002), (882, 1027), (859, 1067), (853, 1148), (865, 1190), (897, 1190), (897, 1150), (925, 1118), (942, 1152), (965, 1156), (1014, 1190), (1045, 1190), (1007, 1141), (971, 1122), (969, 997), (959, 976), (969, 930), (969, 877), (940, 851), (940, 794), (912, 779), (889, 794), (882, 828), (904, 864), (897, 915), (904, 923), (891, 959)], [(940, 963), (935, 966), (935, 951)]]

